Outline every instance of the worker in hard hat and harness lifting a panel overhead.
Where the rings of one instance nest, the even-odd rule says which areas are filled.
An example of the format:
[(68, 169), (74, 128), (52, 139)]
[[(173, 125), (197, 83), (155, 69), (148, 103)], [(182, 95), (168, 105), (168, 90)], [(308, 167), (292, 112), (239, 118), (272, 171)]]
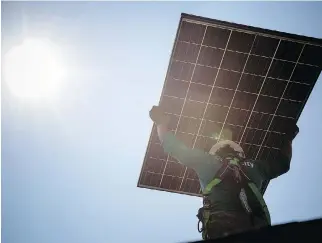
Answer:
[(283, 137), (274, 161), (250, 160), (240, 145), (223, 140), (207, 153), (190, 149), (171, 133), (170, 118), (159, 106), (150, 110), (165, 153), (198, 175), (203, 193), (203, 207), (198, 210), (198, 230), (203, 239), (214, 239), (271, 224), (261, 188), (290, 168), (292, 141), (299, 132), (294, 123)]

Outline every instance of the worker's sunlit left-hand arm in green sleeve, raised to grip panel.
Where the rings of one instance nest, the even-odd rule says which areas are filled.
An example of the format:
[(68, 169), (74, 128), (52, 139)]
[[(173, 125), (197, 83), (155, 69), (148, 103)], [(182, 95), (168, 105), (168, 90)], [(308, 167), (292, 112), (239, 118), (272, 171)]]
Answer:
[(199, 149), (190, 149), (183, 142), (175, 137), (167, 128), (169, 118), (164, 115), (159, 107), (154, 106), (150, 111), (151, 119), (156, 123), (158, 136), (164, 151), (170, 156), (176, 158), (180, 163), (194, 169), (197, 173), (203, 173), (204, 170), (216, 166), (216, 158)]

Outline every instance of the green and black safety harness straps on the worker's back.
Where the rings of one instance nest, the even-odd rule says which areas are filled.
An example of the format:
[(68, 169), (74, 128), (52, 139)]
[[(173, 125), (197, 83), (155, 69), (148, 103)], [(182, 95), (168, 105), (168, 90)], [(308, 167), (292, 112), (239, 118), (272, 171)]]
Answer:
[[(251, 207), (248, 204), (247, 195), (245, 192), (245, 187), (249, 186), (251, 188), (251, 191), (254, 193), (255, 197), (259, 201), (262, 210), (265, 213), (267, 224), (270, 225), (271, 219), (270, 215), (267, 209), (267, 205), (264, 201), (264, 198), (260, 191), (258, 190), (257, 186), (247, 177), (247, 175), (243, 172), (241, 169), (242, 159), (234, 156), (234, 155), (227, 155), (222, 160), (222, 167), (219, 169), (219, 171), (216, 173), (215, 177), (212, 181), (204, 188), (203, 190), (203, 207), (201, 207), (198, 210), (197, 217), (199, 219), (198, 221), (198, 231), (199, 233), (202, 233), (202, 238), (204, 240), (209, 239), (208, 231), (209, 231), (209, 223), (210, 223), (210, 217), (212, 212), (212, 205), (211, 200), (209, 198), (212, 189), (220, 184), (225, 179), (225, 175), (227, 175), (227, 172), (233, 173), (233, 178), (236, 182), (236, 186), (239, 187), (239, 199), (241, 201), (241, 204), (246, 211), (246, 213), (249, 215), (251, 223), (254, 224), (254, 212), (252, 211)], [(201, 224), (201, 227), (200, 227)]]

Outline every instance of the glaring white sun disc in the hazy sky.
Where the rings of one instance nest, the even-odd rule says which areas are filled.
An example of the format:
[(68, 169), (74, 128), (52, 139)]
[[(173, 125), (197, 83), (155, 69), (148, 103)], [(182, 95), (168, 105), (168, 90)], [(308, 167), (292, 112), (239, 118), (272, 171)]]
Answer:
[(50, 98), (59, 89), (63, 70), (57, 48), (48, 41), (26, 39), (5, 54), (4, 80), (22, 98)]

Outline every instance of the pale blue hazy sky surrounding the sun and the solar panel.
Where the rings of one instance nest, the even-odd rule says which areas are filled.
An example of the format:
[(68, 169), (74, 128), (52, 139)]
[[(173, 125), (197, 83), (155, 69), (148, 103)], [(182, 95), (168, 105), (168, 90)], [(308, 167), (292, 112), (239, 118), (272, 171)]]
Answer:
[[(322, 38), (321, 11), (321, 2), (2, 3), (3, 51), (45, 36), (67, 71), (52, 102), (19, 99), (2, 82), (2, 242), (200, 239), (201, 199), (136, 187), (181, 12)], [(291, 170), (266, 192), (274, 224), (322, 216), (321, 95), (320, 79)]]

